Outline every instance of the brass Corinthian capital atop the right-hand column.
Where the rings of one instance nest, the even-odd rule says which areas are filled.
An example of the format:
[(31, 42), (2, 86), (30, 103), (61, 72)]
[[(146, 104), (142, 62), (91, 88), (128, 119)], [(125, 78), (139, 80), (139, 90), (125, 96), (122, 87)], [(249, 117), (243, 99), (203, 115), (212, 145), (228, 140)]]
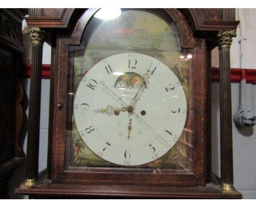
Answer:
[(232, 38), (236, 37), (236, 31), (219, 31), (217, 34), (217, 43), (219, 50), (222, 48), (230, 48), (232, 44)]

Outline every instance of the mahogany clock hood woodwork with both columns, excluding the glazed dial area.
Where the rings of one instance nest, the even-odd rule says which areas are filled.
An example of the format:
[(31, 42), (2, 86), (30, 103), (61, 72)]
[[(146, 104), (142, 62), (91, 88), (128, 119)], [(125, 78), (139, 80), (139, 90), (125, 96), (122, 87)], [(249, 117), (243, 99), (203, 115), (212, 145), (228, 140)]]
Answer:
[[(73, 92), (68, 91), (70, 89), (68, 84), (72, 83), (69, 81), (69, 76), (74, 76), (72, 73), (75, 65), (72, 59), (75, 55), (69, 51), (69, 47), (80, 46), (80, 42), (88, 40), (82, 39), (82, 34), (87, 27), (89, 28), (96, 12), (96, 9), (30, 9), (29, 16), (26, 17), (27, 25), (30, 27), (27, 33), (31, 36), (33, 51), (30, 92), (30, 97), (33, 99), (30, 102), (26, 181), (16, 189), (16, 193), (28, 194), (31, 198), (241, 198), (241, 194), (233, 187), (232, 173), (229, 49), (238, 23), (235, 21), (234, 9), (154, 10), (166, 21), (174, 22), (181, 36), (182, 49), (193, 54), (193, 62), (191, 62), (193, 64), (189, 66), (189, 83), (193, 89), (189, 96), (189, 111), (193, 113), (189, 114), (188, 123), (191, 122), (188, 128), (189, 125), (194, 124), (195, 128), (193, 127), (193, 131), (190, 129), (186, 131), (188, 134), (193, 134), (190, 137), (194, 140), (191, 144), (187, 144), (182, 139), (179, 141), (183, 148), (191, 150), (190, 153), (189, 150), (186, 151), (185, 156), (183, 154), (185, 162), (181, 162), (181, 166), (184, 171), (188, 171), (188, 174), (179, 172), (173, 174), (168, 170), (162, 173), (158, 169), (149, 173), (143, 172), (140, 167), (130, 169), (88, 167), (87, 161), (84, 161), (83, 167), (80, 167), (82, 163), (77, 166), (69, 163), (70, 155), (74, 154), (69, 148), (72, 147), (72, 142), (67, 136), (67, 130), (71, 128), (69, 121), (73, 118), (73, 104), (72, 99), (67, 98), (67, 94)], [(48, 176), (42, 182), (38, 179), (37, 167), (40, 66), (44, 40), (52, 46), (53, 74), (50, 95)], [(210, 57), (212, 48), (216, 46), (220, 51), (220, 114), (222, 115), (220, 179), (212, 175), (210, 139)], [(91, 88), (93, 87), (95, 85), (91, 85)], [(77, 147), (75, 145), (78, 144), (73, 144), (74, 148)], [(78, 147), (82, 148), (82, 146)], [(77, 159), (75, 158), (76, 161)], [(188, 168), (190, 165), (192, 168)]]

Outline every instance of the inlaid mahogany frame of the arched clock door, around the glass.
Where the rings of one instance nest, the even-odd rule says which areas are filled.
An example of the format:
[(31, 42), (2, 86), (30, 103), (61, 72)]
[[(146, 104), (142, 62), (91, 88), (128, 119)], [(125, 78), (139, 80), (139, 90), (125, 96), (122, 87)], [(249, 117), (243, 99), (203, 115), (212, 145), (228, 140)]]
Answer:
[[(207, 74), (210, 72), (206, 68), (206, 43), (203, 40), (196, 40), (191, 35), (191, 29), (189, 29), (188, 22), (185, 21), (181, 13), (174, 9), (166, 10), (166, 17), (176, 20), (178, 28), (181, 29), (182, 44), (185, 47), (193, 48), (193, 62), (190, 69), (190, 81), (191, 83), (191, 100), (190, 110), (193, 115), (190, 115), (194, 119), (194, 126), (199, 129), (194, 129), (194, 174), (153, 174), (147, 173), (147, 170), (125, 169), (125, 168), (72, 168), (66, 169), (65, 156), (66, 156), (66, 109), (67, 109), (67, 73), (70, 70), (68, 66), (68, 46), (77, 45), (80, 42), (80, 37), (83, 33), (86, 23), (90, 20), (92, 13), (84, 13), (84, 15), (78, 21), (71, 38), (66, 35), (57, 37), (56, 41), (56, 54), (57, 61), (54, 65), (54, 85), (55, 99), (53, 106), (54, 115), (53, 119), (53, 131), (51, 134), (53, 153), (52, 153), (52, 177), (53, 183), (95, 183), (95, 184), (133, 184), (133, 185), (178, 185), (178, 186), (196, 186), (206, 184), (206, 172), (207, 167), (207, 139), (210, 135), (207, 135), (206, 124), (207, 120), (206, 112), (206, 100), (209, 99), (209, 95), (206, 93)], [(163, 10), (163, 12), (165, 12)], [(185, 27), (184, 27), (185, 25)], [(185, 28), (185, 30), (184, 30)], [(56, 106), (61, 105), (61, 108)], [(202, 152), (201, 152), (202, 151)], [(146, 172), (145, 172), (146, 171)], [(141, 174), (143, 176), (141, 176)]]

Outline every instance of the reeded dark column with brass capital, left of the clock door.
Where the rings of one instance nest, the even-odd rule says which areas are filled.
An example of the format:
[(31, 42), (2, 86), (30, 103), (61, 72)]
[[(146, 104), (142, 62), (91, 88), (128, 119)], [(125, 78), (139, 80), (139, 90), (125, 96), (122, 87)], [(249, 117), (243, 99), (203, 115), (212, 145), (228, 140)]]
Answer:
[(38, 27), (28, 28), (26, 31), (31, 37), (31, 81), (28, 112), (26, 181), (24, 187), (32, 188), (38, 183), (38, 155), (40, 131), (40, 101), (41, 101), (41, 74), (42, 53), (45, 32)]

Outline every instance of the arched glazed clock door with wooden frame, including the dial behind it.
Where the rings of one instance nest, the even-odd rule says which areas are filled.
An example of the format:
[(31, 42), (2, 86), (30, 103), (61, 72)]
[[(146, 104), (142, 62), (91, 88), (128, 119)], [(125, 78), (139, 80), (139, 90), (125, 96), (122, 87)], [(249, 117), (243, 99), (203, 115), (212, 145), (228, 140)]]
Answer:
[(51, 180), (205, 184), (205, 41), (176, 9), (107, 13), (57, 36)]

